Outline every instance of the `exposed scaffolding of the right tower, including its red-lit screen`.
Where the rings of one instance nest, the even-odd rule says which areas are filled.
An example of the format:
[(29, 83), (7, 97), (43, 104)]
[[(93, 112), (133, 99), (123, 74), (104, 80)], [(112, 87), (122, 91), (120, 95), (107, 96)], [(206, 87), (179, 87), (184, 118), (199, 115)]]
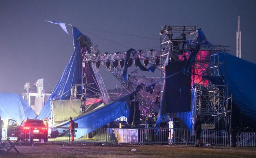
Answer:
[[(186, 59), (196, 47), (197, 37), (196, 26), (161, 26), (161, 49), (168, 48), (165, 48), (166, 51), (163, 51), (162, 56), (169, 55), (172, 61), (180, 60), (177, 56), (183, 56)], [(196, 114), (202, 116), (206, 129), (213, 125), (221, 127), (221, 130), (230, 129), (231, 105), (228, 106), (228, 99), (231, 97), (228, 94), (228, 86), (213, 85), (202, 78), (202, 75), (221, 76), (224, 74), (220, 71), (223, 66), (225, 72), (225, 58), (224, 61), (220, 61), (219, 54), (224, 52), (225, 56), (226, 51), (230, 51), (229, 46), (201, 45), (192, 67), (193, 70), (191, 70), (192, 85), (196, 89)], [(222, 77), (224, 80), (224, 76)]]

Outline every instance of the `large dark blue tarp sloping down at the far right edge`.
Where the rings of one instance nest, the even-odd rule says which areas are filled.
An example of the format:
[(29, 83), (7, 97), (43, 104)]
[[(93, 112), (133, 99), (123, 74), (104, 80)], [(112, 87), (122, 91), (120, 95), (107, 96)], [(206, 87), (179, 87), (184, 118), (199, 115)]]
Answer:
[[(220, 76), (224, 74), (224, 84), (228, 85), (229, 92), (232, 94), (232, 102), (256, 121), (256, 64), (229, 53), (225, 53), (224, 57), (224, 53), (220, 53), (220, 62), (223, 62), (224, 58), (225, 72), (224, 64), (222, 64)], [(222, 77), (210, 80), (221, 84)]]

